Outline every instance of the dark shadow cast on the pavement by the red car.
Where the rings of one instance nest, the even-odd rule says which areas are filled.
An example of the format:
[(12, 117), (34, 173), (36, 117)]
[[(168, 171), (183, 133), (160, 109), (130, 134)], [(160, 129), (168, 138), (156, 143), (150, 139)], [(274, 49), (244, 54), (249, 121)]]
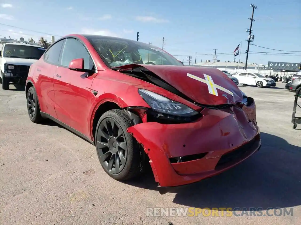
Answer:
[[(260, 133), (259, 152), (230, 170), (175, 188), (174, 203), (198, 208), (284, 208), (301, 204), (301, 147), (272, 134)], [(126, 182), (159, 190), (152, 173)]]

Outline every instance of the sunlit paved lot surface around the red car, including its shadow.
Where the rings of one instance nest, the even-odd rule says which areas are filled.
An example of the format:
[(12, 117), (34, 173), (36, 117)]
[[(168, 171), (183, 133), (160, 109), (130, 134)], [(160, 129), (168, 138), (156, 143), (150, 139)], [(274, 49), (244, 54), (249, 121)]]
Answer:
[[(0, 89), (0, 224), (301, 224), (294, 94), (280, 82), (277, 88), (241, 89), (256, 101), (260, 151), (225, 173), (164, 195), (151, 175), (131, 183), (111, 179), (94, 146), (53, 122), (30, 122), (24, 91)], [(147, 217), (147, 207), (239, 207), (247, 214), (250, 208), (280, 207), (280, 214), (293, 207), (293, 216)]]

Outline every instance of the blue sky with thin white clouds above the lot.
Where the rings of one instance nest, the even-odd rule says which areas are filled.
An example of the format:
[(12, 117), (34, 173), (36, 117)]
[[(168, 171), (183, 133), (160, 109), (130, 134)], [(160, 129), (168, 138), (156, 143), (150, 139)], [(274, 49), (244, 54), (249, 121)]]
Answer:
[[(123, 3), (124, 2), (124, 3)], [(51, 0), (51, 1), (0, 1), (0, 34), (11, 38), (40, 36), (50, 40), (54, 34), (85, 33), (118, 36), (151, 42), (176, 58), (195, 62), (213, 59), (233, 61), (233, 52), (242, 42), (240, 61), (246, 60), (252, 7), (255, 4), (253, 22), (254, 43), (272, 49), (295, 52), (299, 55), (250, 46), (248, 62), (267, 64), (268, 61), (301, 61), (301, 1), (300, 0), (232, 0), (232, 1), (97, 1), (97, 0)], [(11, 25), (11, 26), (5, 26)], [(23, 29), (19, 29), (23, 28)], [(26, 30), (27, 29), (27, 30)], [(28, 31), (31, 30), (31, 31)], [(46, 34), (40, 34), (38, 31)], [(0, 36), (0, 37), (1, 37)], [(59, 38), (56, 36), (56, 39)], [(259, 53), (275, 52), (275, 53)], [(236, 58), (236, 61), (239, 57)]]

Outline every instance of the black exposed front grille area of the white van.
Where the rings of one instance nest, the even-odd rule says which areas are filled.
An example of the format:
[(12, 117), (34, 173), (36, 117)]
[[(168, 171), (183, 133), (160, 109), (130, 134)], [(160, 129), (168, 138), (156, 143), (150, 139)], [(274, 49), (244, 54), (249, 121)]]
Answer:
[(4, 64), (3, 76), (13, 84), (22, 85), (26, 82), (29, 68), (28, 65)]

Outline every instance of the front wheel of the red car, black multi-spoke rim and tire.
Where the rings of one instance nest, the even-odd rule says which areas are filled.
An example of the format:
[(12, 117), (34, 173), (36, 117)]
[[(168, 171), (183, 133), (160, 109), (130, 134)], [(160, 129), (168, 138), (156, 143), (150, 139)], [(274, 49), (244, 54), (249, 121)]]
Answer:
[(101, 116), (96, 127), (95, 146), (98, 160), (104, 171), (118, 181), (132, 179), (141, 174), (140, 146), (126, 132), (130, 126), (131, 121), (122, 110), (109, 110)]

